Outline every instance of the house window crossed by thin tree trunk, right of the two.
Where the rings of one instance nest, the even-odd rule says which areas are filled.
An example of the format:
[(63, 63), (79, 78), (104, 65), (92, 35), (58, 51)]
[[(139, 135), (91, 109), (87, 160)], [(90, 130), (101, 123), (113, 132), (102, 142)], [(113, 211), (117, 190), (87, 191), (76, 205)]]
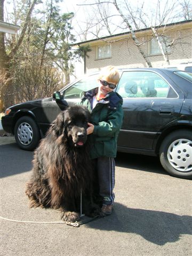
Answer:
[[(164, 52), (170, 52), (170, 43), (171, 43), (171, 40), (170, 38), (168, 37), (161, 37), (159, 36), (158, 37), (160, 42), (162, 43), (162, 46), (163, 46), (163, 50)], [(158, 42), (157, 42), (157, 39), (154, 37), (151, 39), (150, 41), (150, 50), (149, 50), (149, 54), (161, 54), (161, 49), (158, 45)]]

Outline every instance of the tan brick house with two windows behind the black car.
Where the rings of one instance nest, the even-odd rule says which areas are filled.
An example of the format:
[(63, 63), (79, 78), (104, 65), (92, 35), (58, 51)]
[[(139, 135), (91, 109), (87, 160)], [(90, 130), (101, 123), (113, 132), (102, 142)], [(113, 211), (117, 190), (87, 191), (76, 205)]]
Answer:
[[(157, 39), (152, 37), (151, 28), (134, 31), (141, 49), (149, 58), (153, 67), (166, 67)], [(158, 27), (158, 37), (170, 61), (170, 66), (180, 63), (191, 63), (192, 66), (192, 20), (171, 23)], [(91, 48), (89, 57), (84, 58), (84, 73), (100, 70), (102, 67), (113, 65), (118, 68), (147, 67), (138, 47), (135, 46), (130, 32), (113, 36), (92, 39), (76, 44)]]

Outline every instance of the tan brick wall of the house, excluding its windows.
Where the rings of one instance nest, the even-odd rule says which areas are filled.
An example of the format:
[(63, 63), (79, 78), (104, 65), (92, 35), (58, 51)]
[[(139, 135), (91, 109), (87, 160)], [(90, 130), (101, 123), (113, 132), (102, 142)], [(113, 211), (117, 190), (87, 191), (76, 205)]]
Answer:
[[(166, 35), (172, 40), (174, 39), (173, 46), (169, 54), (170, 65), (177, 65), (181, 62), (192, 61), (192, 28), (182, 29), (178, 28), (166, 31)], [(139, 42), (148, 39), (149, 36), (138, 37)], [(101, 42), (103, 44), (103, 42)], [(163, 67), (166, 62), (163, 55), (150, 55), (149, 46), (150, 42), (143, 44), (142, 50), (148, 55), (149, 60), (153, 67)], [(97, 45), (98, 46), (98, 45)], [(111, 58), (96, 59), (97, 46), (92, 46), (92, 51), (89, 52), (89, 58), (86, 58), (87, 73), (100, 70), (102, 67), (114, 65), (116, 67), (147, 67), (145, 60), (142, 58), (137, 46), (134, 45), (132, 38), (124, 39), (111, 43)]]

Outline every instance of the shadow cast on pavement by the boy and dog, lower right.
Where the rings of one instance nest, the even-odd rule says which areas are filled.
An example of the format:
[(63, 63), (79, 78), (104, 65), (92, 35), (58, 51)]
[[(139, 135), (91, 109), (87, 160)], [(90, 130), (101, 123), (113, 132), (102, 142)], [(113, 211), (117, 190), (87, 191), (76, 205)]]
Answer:
[[(131, 209), (115, 203), (113, 213), (86, 224), (90, 228), (134, 233), (147, 241), (164, 245), (178, 241), (183, 234), (192, 234), (192, 217), (172, 213)], [(137, 243), (137, 241), (135, 241)]]

